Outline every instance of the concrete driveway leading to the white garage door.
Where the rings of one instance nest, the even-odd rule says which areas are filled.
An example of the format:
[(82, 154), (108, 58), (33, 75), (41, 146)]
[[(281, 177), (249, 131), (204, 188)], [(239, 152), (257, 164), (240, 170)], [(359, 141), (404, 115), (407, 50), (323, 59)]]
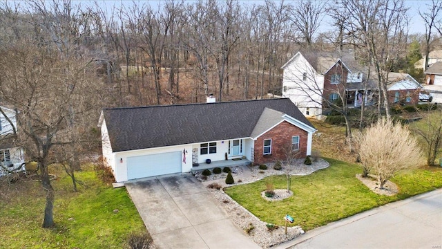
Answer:
[(124, 185), (157, 248), (260, 248), (192, 175)]

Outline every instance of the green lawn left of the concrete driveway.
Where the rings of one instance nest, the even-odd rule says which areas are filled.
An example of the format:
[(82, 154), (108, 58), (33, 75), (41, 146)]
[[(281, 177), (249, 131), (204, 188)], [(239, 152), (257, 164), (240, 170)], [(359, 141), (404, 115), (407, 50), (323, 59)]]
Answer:
[(146, 231), (125, 188), (105, 185), (92, 169), (77, 178), (86, 184), (78, 186), (79, 192), (72, 191), (66, 175), (52, 181), (55, 227), (50, 229), (41, 228), (45, 196), (40, 184), (12, 186), (17, 189), (10, 190), (10, 199), (0, 200), (0, 248), (124, 248), (129, 233)]

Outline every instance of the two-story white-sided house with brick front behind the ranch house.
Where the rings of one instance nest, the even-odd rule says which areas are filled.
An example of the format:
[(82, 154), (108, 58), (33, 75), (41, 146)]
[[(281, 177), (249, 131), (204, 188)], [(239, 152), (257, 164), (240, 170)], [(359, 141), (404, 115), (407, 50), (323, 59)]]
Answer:
[(377, 90), (367, 80), (352, 53), (311, 53), (299, 51), (282, 66), (282, 97), (290, 98), (305, 116), (318, 119), (326, 102), (345, 98), (349, 107), (360, 107), (377, 101)]

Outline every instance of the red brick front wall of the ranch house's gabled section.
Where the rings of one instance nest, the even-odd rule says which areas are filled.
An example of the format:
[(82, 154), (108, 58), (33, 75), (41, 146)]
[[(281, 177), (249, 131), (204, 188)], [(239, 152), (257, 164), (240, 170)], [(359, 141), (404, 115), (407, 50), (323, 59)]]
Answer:
[[(298, 154), (298, 157), (305, 157), (307, 154), (307, 131), (284, 121), (270, 131), (262, 134), (262, 136), (255, 141), (254, 162), (260, 164), (275, 162), (278, 159), (284, 160), (285, 153), (283, 148), (287, 145), (291, 146), (292, 136), (299, 136), (300, 153)], [(264, 140), (266, 139), (271, 139), (271, 155), (264, 155)]]

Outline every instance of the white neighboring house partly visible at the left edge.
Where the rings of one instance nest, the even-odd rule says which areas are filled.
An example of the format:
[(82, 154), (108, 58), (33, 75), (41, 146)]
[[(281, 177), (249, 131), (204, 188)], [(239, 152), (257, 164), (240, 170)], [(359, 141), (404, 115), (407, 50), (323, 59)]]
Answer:
[(0, 113), (0, 176), (4, 176), (25, 171), (25, 160), (23, 149), (13, 145), (10, 139), (13, 133), (12, 125), (17, 127), (15, 111), (7, 107), (0, 108), (6, 114), (5, 116)]

